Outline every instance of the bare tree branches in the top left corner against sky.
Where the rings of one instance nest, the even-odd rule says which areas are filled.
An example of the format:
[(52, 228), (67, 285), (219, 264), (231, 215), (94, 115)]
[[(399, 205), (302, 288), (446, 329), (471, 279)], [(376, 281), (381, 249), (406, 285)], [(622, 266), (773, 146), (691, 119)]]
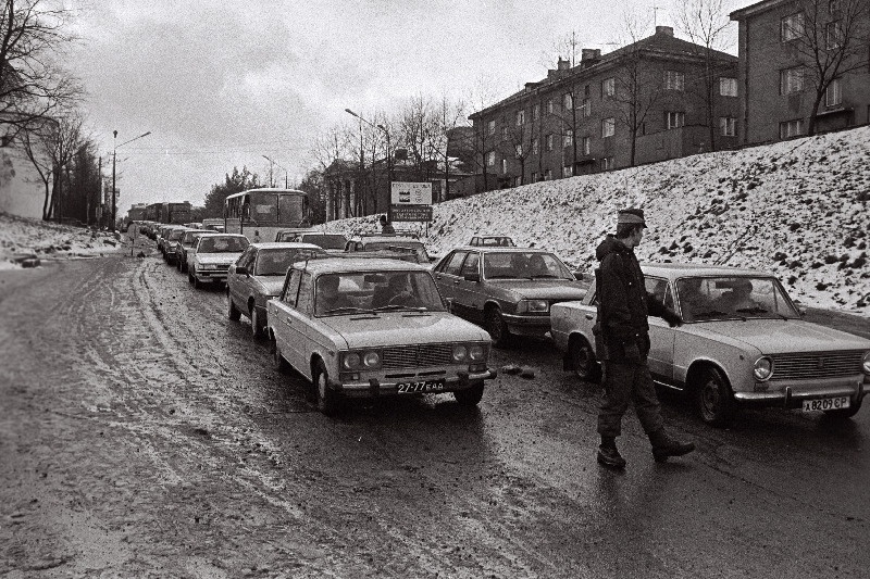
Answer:
[(74, 40), (61, 0), (3, 0), (0, 14), (0, 123), (7, 138), (59, 114), (82, 93), (58, 64)]

